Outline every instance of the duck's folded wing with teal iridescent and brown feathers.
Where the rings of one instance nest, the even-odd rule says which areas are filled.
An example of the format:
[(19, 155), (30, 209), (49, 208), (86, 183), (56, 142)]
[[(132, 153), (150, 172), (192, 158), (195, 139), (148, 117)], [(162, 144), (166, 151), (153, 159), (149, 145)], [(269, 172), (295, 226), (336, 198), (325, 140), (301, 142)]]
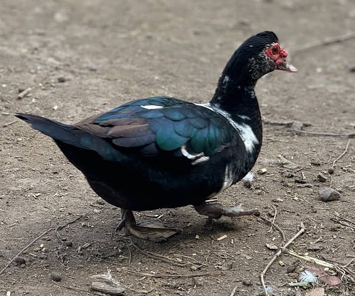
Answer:
[(117, 148), (172, 151), (184, 145), (189, 153), (212, 155), (228, 146), (233, 128), (220, 114), (202, 106), (168, 97), (136, 100), (77, 126), (103, 138)]

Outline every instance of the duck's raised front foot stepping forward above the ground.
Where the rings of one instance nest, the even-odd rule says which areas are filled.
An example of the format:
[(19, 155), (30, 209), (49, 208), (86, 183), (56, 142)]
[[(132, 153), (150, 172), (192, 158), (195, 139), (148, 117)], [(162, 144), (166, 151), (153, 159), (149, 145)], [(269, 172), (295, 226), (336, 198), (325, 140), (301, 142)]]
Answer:
[(260, 212), (257, 209), (244, 210), (241, 207), (241, 204), (235, 207), (225, 207), (219, 203), (215, 204), (206, 204), (205, 202), (201, 203), (198, 206), (195, 206), (195, 210), (201, 214), (208, 216), (208, 220), (210, 219), (220, 219), (222, 216), (227, 217), (239, 217), (239, 216), (260, 216)]

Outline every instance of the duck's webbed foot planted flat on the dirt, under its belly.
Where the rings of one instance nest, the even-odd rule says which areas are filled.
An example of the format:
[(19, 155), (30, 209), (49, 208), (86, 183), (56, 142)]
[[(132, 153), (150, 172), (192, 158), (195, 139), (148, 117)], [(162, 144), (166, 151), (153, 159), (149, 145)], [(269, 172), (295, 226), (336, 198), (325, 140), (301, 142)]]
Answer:
[(140, 226), (137, 225), (132, 211), (121, 209), (121, 213), (122, 218), (116, 230), (124, 228), (126, 232), (133, 234), (138, 238), (161, 242), (178, 232), (176, 229), (157, 227), (157, 221), (142, 222), (140, 224), (145, 226)]

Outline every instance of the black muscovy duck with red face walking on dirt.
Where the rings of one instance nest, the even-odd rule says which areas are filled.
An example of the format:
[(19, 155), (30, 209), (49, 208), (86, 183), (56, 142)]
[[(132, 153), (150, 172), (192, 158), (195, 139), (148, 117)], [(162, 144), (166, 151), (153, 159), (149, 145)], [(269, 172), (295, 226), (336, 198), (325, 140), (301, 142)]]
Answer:
[(262, 143), (254, 86), (276, 69), (297, 72), (286, 57), (276, 35), (265, 31), (237, 48), (207, 104), (152, 97), (74, 125), (32, 114), (16, 116), (51, 137), (91, 188), (121, 208), (119, 229), (161, 241), (176, 229), (137, 225), (132, 211), (193, 205), (209, 219), (259, 214), (205, 200), (253, 167)]

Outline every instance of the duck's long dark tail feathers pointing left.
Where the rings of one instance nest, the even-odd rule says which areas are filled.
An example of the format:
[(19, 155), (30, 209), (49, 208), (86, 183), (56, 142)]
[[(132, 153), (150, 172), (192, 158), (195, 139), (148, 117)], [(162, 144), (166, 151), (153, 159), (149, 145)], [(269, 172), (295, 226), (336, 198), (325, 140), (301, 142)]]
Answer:
[(122, 157), (122, 154), (106, 139), (79, 130), (75, 126), (27, 113), (16, 113), (15, 116), (54, 140), (79, 148), (94, 150), (106, 160), (118, 160)]

